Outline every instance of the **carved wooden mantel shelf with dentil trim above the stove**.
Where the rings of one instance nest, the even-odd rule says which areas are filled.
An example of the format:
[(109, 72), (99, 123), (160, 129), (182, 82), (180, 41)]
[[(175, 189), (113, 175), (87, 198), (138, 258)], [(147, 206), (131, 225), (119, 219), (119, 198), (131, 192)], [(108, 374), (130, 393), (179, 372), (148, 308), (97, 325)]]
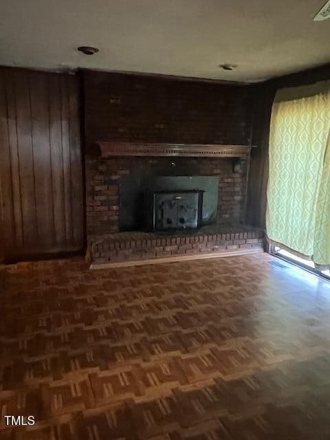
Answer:
[(221, 144), (167, 144), (99, 141), (89, 153), (99, 157), (232, 157), (248, 159), (252, 146)]

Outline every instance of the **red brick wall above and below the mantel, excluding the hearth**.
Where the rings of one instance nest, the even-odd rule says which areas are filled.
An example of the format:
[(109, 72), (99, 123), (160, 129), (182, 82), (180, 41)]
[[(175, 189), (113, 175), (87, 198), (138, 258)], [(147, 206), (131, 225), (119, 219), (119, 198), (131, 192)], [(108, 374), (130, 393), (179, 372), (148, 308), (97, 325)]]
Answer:
[[(250, 86), (162, 76), (84, 72), (85, 144), (128, 142), (250, 144)], [(229, 159), (87, 157), (87, 234), (118, 231), (118, 179), (128, 173), (219, 175), (217, 221), (242, 221), (246, 168)]]

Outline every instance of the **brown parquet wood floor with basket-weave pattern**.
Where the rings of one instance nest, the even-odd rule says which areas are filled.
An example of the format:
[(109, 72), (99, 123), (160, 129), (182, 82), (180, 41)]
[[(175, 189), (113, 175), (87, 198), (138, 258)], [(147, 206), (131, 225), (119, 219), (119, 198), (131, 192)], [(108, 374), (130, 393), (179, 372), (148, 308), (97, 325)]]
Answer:
[(0, 439), (330, 439), (330, 283), (272, 261), (8, 267)]

